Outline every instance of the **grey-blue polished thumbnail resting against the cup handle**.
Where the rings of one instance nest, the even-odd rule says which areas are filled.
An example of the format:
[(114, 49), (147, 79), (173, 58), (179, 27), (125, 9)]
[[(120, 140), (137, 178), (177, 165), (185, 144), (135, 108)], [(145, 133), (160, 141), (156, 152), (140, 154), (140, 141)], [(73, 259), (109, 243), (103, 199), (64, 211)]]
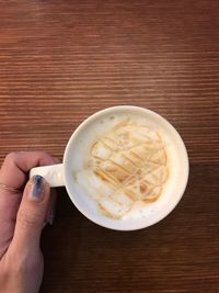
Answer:
[(44, 183), (45, 180), (42, 176), (35, 174), (32, 177), (31, 181), (31, 190), (30, 190), (30, 199), (32, 201), (39, 202), (44, 198)]

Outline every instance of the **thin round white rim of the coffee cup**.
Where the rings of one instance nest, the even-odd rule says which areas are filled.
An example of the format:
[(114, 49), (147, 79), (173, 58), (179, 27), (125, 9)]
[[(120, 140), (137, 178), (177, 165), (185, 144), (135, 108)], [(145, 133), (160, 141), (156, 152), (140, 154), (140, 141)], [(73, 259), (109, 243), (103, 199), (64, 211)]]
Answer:
[[(73, 194), (72, 195), (72, 192), (69, 188), (69, 184), (68, 184), (68, 180), (67, 180), (67, 172), (68, 170), (66, 169), (66, 166), (67, 166), (67, 159), (68, 159), (68, 154), (69, 154), (69, 149), (70, 149), (70, 146), (72, 145), (74, 138), (77, 137), (77, 135), (84, 128), (87, 127), (88, 124), (90, 124), (91, 122), (93, 122), (94, 120), (97, 120), (100, 116), (102, 115), (105, 115), (105, 114), (108, 114), (108, 113), (116, 113), (116, 112), (119, 112), (122, 110), (136, 110), (136, 111), (141, 111), (145, 112), (146, 114), (150, 114), (150, 115), (153, 115), (155, 119), (158, 120), (161, 120), (162, 123), (165, 124), (165, 127), (169, 127), (173, 133), (174, 135), (177, 137), (178, 139), (178, 143), (181, 143), (181, 146), (182, 146), (182, 150), (183, 150), (183, 157), (184, 157), (184, 184), (182, 187), (182, 189), (178, 191), (177, 193), (177, 200), (174, 201), (174, 204), (172, 204), (170, 206), (170, 209), (168, 210), (166, 213), (162, 214), (160, 217), (157, 218), (157, 221), (150, 223), (149, 225), (146, 225), (146, 223), (142, 221), (141, 224), (138, 224), (134, 227), (120, 227), (119, 225), (105, 225), (103, 223), (100, 223), (100, 221), (97, 221), (96, 218), (94, 218), (93, 216), (91, 216), (87, 209), (83, 209), (83, 206), (80, 206), (77, 201), (74, 200), (74, 198), (77, 196), (77, 194)], [(137, 105), (115, 105), (115, 106), (110, 106), (110, 108), (106, 108), (106, 109), (103, 109), (103, 110), (100, 110), (95, 113), (93, 113), (92, 115), (88, 116), (77, 128), (76, 131), (72, 133), (71, 137), (69, 138), (68, 140), (68, 144), (66, 146), (66, 149), (65, 149), (65, 154), (64, 154), (64, 173), (65, 173), (65, 182), (66, 182), (66, 189), (67, 189), (67, 192), (68, 192), (68, 195), (70, 198), (70, 200), (72, 201), (72, 203), (74, 204), (74, 206), (87, 217), (89, 218), (90, 221), (92, 221), (93, 223), (102, 226), (102, 227), (105, 227), (105, 228), (110, 228), (110, 229), (114, 229), (114, 230), (137, 230), (137, 229), (142, 229), (142, 228), (146, 228), (146, 227), (149, 227), (149, 226), (152, 226), (154, 224), (157, 224), (158, 222), (162, 221), (164, 217), (166, 217), (174, 209), (175, 206), (178, 204), (178, 202), (181, 201), (184, 192), (185, 192), (185, 189), (187, 187), (187, 181), (188, 181), (188, 176), (189, 176), (189, 161), (188, 161), (188, 155), (187, 155), (187, 150), (186, 150), (186, 147), (185, 147), (185, 144), (181, 137), (181, 135), (178, 134), (178, 132), (175, 129), (175, 127), (166, 120), (164, 119), (163, 116), (161, 116), (160, 114), (158, 114), (157, 112), (152, 111), (152, 110), (149, 110), (149, 109), (146, 109), (146, 108), (141, 108), (141, 106), (137, 106)], [(88, 195), (87, 195), (88, 196)], [(118, 221), (119, 223), (120, 221)], [(113, 222), (115, 223), (115, 222)]]

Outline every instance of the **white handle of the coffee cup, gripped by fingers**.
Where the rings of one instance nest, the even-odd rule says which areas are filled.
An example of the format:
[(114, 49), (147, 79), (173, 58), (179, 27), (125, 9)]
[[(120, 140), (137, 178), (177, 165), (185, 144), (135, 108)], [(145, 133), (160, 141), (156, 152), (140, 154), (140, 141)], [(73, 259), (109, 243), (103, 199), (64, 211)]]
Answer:
[(30, 178), (34, 174), (43, 176), (51, 188), (64, 187), (64, 164), (35, 167), (30, 171)]

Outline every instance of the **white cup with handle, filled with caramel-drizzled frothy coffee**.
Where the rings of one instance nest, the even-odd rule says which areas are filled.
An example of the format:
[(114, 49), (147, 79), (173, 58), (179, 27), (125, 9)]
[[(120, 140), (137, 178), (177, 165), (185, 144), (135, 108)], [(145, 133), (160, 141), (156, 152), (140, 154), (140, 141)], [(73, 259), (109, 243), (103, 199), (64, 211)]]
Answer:
[(148, 227), (177, 205), (188, 157), (175, 128), (139, 106), (113, 106), (88, 117), (71, 135), (64, 162), (36, 167), (50, 187), (65, 185), (76, 207), (117, 230)]

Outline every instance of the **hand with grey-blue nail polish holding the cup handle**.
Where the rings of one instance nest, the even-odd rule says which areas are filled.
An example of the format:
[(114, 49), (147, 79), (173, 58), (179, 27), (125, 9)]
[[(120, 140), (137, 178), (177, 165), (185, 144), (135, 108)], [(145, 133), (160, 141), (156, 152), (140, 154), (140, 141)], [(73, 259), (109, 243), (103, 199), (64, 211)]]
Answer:
[(45, 223), (53, 221), (55, 198), (41, 176), (24, 184), (33, 167), (57, 162), (43, 151), (21, 151), (9, 154), (0, 169), (0, 293), (39, 290), (41, 234)]

